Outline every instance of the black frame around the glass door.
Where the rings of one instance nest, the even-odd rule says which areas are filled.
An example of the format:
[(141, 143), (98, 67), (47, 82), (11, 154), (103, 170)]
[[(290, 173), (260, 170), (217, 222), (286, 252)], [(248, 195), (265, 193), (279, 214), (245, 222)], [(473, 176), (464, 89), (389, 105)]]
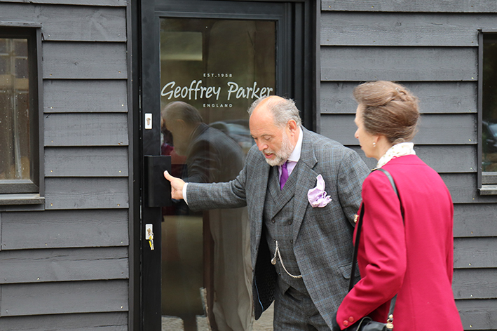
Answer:
[[(247, 18), (257, 19), (254, 8), (261, 3), (282, 3), (285, 7), (283, 27), (278, 27), (277, 66), (287, 63), (286, 68), (277, 69), (277, 93), (291, 97), (301, 110), (306, 128), (319, 130), (319, 41), (318, 1), (200, 1), (200, 0), (131, 0), (128, 6), (128, 53), (130, 54), (130, 77), (128, 93), (132, 106), (130, 128), (130, 167), (135, 170), (132, 189), (133, 208), (130, 208), (130, 330), (161, 330), (161, 208), (148, 208), (144, 203), (144, 155), (160, 155), (160, 77), (156, 74), (159, 63), (159, 18)], [(159, 4), (156, 4), (159, 3)], [(192, 3), (196, 3), (192, 6)], [(215, 5), (215, 6), (214, 6)], [(253, 6), (251, 6), (253, 5)], [(202, 6), (202, 9), (199, 7)], [(245, 12), (233, 8), (245, 8)], [(196, 8), (192, 11), (192, 8)], [(231, 14), (225, 14), (231, 10)], [(192, 13), (193, 12), (193, 13)], [(265, 19), (271, 18), (266, 15)], [(128, 21), (129, 22), (129, 21)], [(282, 40), (280, 41), (280, 38)], [(157, 42), (151, 42), (156, 40)], [(285, 42), (283, 42), (285, 41)], [(152, 130), (142, 130), (144, 113), (152, 113)], [(130, 124), (131, 126), (131, 124)], [(156, 250), (151, 251), (144, 240), (145, 224), (153, 224)]]

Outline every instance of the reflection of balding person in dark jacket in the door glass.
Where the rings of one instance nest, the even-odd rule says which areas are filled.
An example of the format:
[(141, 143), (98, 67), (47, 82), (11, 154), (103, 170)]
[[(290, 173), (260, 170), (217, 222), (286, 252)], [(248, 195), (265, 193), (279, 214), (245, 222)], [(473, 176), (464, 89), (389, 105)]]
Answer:
[[(241, 147), (222, 131), (203, 123), (198, 110), (185, 102), (171, 102), (162, 112), (177, 154), (186, 156), (182, 177), (188, 182), (233, 180), (243, 168)], [(210, 210), (214, 240), (214, 306), (218, 330), (250, 330), (250, 238), (246, 208)], [(209, 307), (210, 309), (210, 307)]]

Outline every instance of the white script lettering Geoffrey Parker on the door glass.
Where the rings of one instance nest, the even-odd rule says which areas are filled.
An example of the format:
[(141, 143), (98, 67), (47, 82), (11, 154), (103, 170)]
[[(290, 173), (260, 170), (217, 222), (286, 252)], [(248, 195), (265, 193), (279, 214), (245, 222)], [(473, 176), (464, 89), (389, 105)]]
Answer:
[[(222, 88), (220, 86), (202, 86), (202, 80), (196, 81), (194, 79), (191, 81), (190, 86), (175, 86), (175, 81), (170, 81), (165, 84), (161, 90), (161, 95), (167, 97), (168, 100), (172, 99), (172, 97), (175, 99), (182, 97), (183, 99), (188, 100), (216, 97), (216, 100), (219, 100), (219, 96), (222, 93)], [(273, 91), (273, 88), (267, 86), (263, 88), (257, 87), (257, 81), (254, 81), (253, 86), (238, 86), (234, 81), (229, 81), (226, 83), (226, 87), (226, 100), (231, 100), (231, 97), (253, 100), (271, 95), (271, 92)]]

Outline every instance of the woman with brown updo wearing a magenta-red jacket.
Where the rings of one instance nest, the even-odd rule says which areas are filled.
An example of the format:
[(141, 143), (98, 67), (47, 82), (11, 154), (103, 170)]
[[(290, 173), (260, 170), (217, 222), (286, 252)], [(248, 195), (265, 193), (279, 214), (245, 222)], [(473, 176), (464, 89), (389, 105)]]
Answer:
[(343, 299), (333, 331), (346, 330), (364, 316), (385, 323), (396, 294), (395, 331), (463, 330), (451, 288), (451, 195), (410, 142), (419, 117), (417, 99), (390, 81), (364, 83), (354, 97), (359, 104), (355, 137), (366, 156), (378, 160), (376, 168), (392, 175), (400, 200), (381, 171), (373, 171), (362, 185), (361, 280)]

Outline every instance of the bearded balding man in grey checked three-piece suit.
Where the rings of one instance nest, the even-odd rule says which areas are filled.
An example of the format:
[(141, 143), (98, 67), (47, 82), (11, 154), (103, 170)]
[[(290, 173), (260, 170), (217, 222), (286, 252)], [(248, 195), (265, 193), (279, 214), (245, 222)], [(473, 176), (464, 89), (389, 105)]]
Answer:
[[(249, 113), (257, 146), (238, 177), (185, 184), (166, 172), (172, 198), (193, 210), (247, 205), (255, 318), (274, 300), (275, 330), (329, 330), (348, 290), (354, 215), (369, 170), (355, 151), (302, 127), (292, 100), (264, 97)], [(321, 194), (310, 197), (310, 189)]]

